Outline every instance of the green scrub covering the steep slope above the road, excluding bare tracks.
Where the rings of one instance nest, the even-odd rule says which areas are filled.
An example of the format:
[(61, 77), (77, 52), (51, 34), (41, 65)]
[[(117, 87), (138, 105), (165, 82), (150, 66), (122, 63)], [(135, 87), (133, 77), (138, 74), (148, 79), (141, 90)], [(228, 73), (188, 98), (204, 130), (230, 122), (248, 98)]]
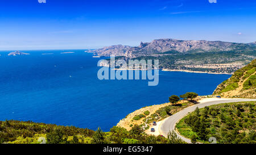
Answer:
[[(223, 93), (225, 92), (236, 90), (238, 89), (238, 87), (240, 87), (239, 83), (242, 83), (241, 90), (239, 89), (239, 91), (237, 92), (236, 95), (234, 95), (234, 97), (239, 97), (240, 94), (244, 94), (243, 95), (244, 97), (251, 98), (251, 96), (246, 96), (244, 91), (255, 89), (256, 87), (255, 70), (256, 70), (256, 59), (251, 61), (249, 64), (247, 64), (243, 68), (238, 69), (236, 72), (234, 72), (232, 77), (230, 77), (229, 79), (227, 79), (226, 81), (218, 85), (213, 95), (223, 95)], [(224, 95), (224, 97), (226, 96)]]

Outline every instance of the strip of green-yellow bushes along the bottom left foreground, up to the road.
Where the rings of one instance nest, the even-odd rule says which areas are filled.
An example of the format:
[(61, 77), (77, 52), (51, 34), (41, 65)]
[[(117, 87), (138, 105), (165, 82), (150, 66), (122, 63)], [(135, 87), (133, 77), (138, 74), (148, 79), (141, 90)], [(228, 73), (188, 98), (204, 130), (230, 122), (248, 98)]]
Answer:
[(49, 144), (168, 144), (176, 141), (184, 143), (175, 135), (170, 135), (168, 139), (162, 136), (149, 136), (139, 125), (134, 125), (130, 131), (114, 126), (109, 132), (102, 132), (100, 128), (92, 131), (30, 121), (0, 121), (0, 144), (39, 144), (42, 137)]

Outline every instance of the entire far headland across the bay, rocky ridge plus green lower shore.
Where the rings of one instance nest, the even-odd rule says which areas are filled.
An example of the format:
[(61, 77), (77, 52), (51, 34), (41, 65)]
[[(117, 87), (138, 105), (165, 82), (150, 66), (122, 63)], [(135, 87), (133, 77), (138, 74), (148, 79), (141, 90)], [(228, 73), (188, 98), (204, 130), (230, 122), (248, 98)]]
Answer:
[(159, 60), (159, 68), (207, 73), (234, 73), (256, 58), (256, 44), (158, 39), (138, 47), (113, 45), (88, 51), (119, 59)]

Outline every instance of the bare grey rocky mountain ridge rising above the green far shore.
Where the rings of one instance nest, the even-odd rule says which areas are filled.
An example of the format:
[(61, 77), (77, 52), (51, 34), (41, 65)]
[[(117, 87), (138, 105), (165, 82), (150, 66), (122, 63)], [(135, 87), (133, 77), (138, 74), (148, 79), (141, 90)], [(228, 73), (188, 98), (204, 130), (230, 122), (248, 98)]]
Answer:
[(255, 49), (256, 43), (229, 43), (224, 41), (206, 40), (176, 40), (158, 39), (151, 43), (142, 43), (138, 47), (125, 45), (113, 45), (93, 51), (98, 56), (125, 56), (135, 58), (140, 56), (162, 56), (174, 53), (205, 53), (218, 51), (241, 51), (245, 49)]

